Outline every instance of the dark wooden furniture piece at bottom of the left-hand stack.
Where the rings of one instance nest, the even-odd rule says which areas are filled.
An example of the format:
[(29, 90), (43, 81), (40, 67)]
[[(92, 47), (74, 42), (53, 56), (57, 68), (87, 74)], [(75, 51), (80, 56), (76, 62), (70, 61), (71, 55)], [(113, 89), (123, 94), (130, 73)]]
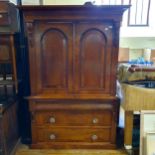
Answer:
[(18, 103), (14, 99), (0, 104), (0, 154), (10, 155), (18, 142)]

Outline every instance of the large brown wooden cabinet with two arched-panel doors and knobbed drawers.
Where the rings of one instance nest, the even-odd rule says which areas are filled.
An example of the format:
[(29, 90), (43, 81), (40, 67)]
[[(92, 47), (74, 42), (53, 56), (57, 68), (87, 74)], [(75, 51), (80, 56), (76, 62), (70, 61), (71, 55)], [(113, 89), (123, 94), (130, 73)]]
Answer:
[(32, 148), (115, 148), (119, 28), (128, 6), (22, 6)]

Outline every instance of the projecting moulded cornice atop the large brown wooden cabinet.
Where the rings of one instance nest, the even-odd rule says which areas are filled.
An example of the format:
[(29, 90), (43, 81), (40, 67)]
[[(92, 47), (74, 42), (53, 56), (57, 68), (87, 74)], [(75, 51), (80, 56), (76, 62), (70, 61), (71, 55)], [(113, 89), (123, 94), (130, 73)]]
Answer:
[(120, 22), (130, 5), (23, 5), (26, 22), (34, 20), (113, 20)]

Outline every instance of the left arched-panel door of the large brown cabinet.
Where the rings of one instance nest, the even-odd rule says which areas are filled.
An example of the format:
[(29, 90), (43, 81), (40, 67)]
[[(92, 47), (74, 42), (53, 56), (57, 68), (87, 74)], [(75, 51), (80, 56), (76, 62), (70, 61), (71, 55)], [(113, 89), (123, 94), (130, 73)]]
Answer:
[(72, 33), (71, 23), (36, 22), (37, 92), (71, 91)]

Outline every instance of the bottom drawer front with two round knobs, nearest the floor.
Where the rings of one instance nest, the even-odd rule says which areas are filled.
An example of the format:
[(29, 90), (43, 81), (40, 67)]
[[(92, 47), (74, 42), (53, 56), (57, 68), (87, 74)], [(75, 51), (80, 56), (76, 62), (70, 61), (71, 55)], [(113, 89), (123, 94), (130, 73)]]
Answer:
[(37, 128), (38, 142), (108, 142), (110, 128)]

